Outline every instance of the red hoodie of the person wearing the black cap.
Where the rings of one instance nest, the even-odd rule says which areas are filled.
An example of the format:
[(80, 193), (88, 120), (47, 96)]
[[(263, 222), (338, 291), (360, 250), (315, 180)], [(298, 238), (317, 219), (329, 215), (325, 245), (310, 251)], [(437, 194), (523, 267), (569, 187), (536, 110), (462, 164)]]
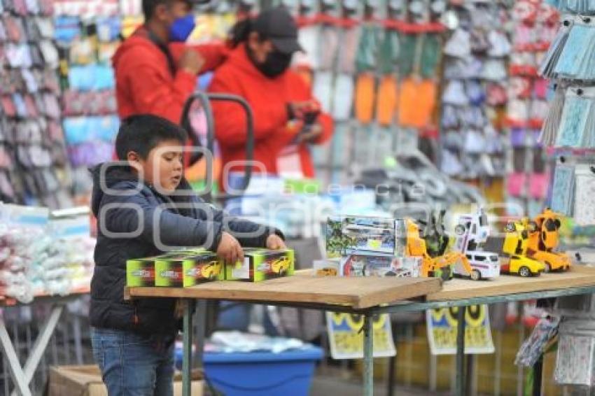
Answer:
[[(303, 78), (288, 70), (276, 78), (268, 78), (252, 64), (244, 45), (233, 50), (216, 71), (210, 92), (224, 92), (244, 97), (254, 115), (254, 160), (261, 162), (267, 173), (277, 174), (276, 161), (281, 150), (295, 138), (288, 129), (287, 104), (292, 101), (314, 99)], [(215, 130), (221, 146), (223, 166), (246, 158), (246, 115), (237, 104), (213, 102)], [(318, 117), (323, 133), (316, 143), (323, 143), (332, 135), (333, 122), (327, 114)], [(298, 147), (302, 172), (314, 177), (307, 144)], [(232, 167), (240, 171), (241, 167)], [(260, 171), (254, 168), (255, 172)]]

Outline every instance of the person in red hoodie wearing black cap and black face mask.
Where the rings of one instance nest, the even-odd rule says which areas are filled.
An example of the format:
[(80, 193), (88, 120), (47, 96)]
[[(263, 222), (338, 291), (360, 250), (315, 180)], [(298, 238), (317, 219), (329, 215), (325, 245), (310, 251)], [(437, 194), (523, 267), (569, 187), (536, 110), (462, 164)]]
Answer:
[[(320, 113), (303, 78), (289, 69), (292, 55), (302, 49), (293, 18), (285, 8), (270, 8), (239, 22), (232, 36), (234, 49), (215, 71), (209, 91), (237, 94), (251, 105), (254, 171), (314, 177), (309, 144), (330, 139), (333, 123)], [(246, 158), (244, 111), (237, 104), (214, 102), (213, 113), (224, 170), (242, 171), (243, 166), (229, 164)], [(223, 173), (225, 178), (228, 172)]]

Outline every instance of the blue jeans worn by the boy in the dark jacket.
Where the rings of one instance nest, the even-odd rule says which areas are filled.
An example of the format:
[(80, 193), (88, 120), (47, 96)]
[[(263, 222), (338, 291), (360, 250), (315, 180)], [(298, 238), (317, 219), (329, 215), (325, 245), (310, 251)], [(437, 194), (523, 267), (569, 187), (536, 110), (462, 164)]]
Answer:
[(174, 342), (120, 330), (91, 329), (93, 356), (109, 396), (172, 396)]

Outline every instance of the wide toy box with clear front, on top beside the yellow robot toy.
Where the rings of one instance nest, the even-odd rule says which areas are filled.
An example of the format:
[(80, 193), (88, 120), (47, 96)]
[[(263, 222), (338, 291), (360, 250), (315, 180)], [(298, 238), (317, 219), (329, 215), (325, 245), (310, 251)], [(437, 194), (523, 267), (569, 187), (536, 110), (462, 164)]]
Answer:
[(391, 218), (338, 216), (328, 219), (326, 255), (405, 255), (405, 223)]

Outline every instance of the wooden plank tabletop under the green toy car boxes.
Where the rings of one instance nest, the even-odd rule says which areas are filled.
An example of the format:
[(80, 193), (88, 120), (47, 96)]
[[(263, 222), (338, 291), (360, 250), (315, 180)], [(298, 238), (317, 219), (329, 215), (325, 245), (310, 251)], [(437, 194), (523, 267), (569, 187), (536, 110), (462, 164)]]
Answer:
[(127, 288), (127, 297), (176, 297), (349, 306), (368, 309), (440, 290), (435, 278), (343, 278), (312, 276), (311, 270), (258, 283), (216, 281), (190, 288)]

